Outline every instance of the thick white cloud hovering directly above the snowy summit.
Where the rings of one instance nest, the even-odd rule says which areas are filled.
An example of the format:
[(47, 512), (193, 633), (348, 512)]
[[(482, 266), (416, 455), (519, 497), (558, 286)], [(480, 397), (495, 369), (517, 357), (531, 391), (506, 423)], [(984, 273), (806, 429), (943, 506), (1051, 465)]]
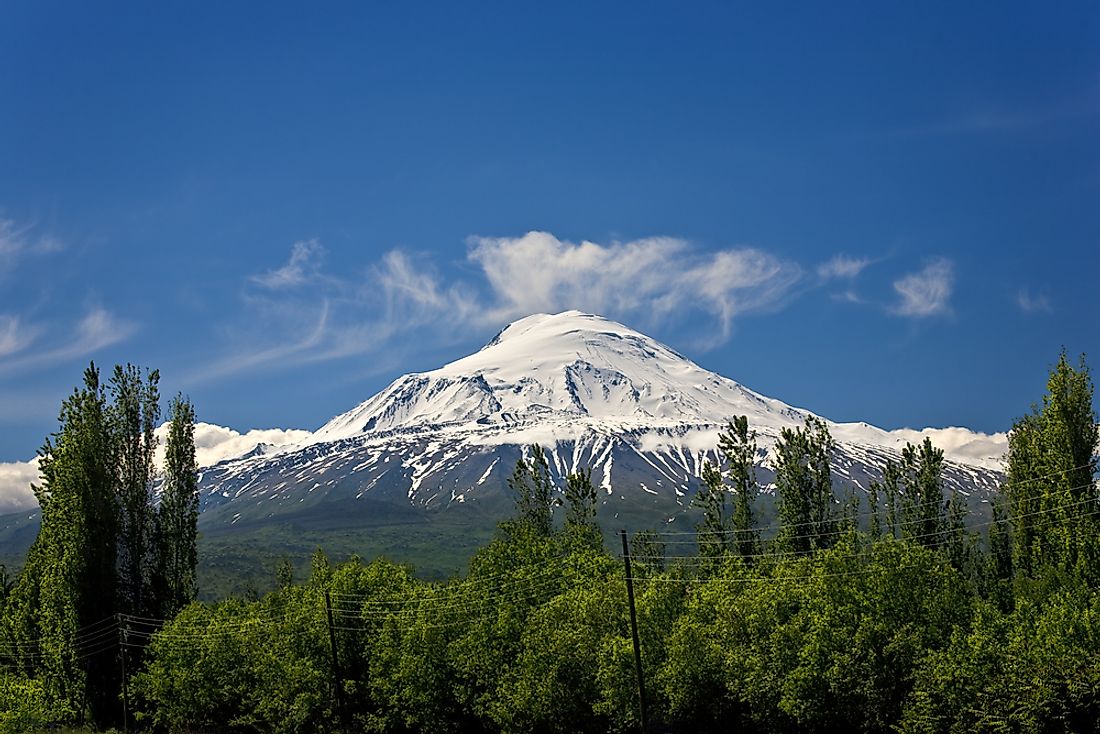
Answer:
[(570, 308), (641, 320), (701, 310), (721, 340), (737, 317), (780, 306), (802, 275), (760, 250), (701, 253), (674, 238), (600, 244), (528, 232), (472, 238), (469, 258), (488, 282), (493, 321)]

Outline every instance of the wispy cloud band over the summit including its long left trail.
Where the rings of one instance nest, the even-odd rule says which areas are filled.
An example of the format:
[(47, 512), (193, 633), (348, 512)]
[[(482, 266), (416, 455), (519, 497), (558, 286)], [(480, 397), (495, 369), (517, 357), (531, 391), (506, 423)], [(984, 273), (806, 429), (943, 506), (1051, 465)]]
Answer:
[(297, 242), (284, 265), (245, 278), (251, 317), (228, 332), (238, 347), (191, 380), (378, 353), (413, 330), (446, 341), (571, 308), (702, 322), (700, 331), (716, 343), (738, 318), (781, 308), (802, 278), (799, 265), (758, 249), (702, 252), (675, 238), (596, 243), (528, 232), (466, 244), (475, 271), (448, 281), (429, 259), (403, 250), (358, 276), (334, 275), (320, 267), (317, 240)]

